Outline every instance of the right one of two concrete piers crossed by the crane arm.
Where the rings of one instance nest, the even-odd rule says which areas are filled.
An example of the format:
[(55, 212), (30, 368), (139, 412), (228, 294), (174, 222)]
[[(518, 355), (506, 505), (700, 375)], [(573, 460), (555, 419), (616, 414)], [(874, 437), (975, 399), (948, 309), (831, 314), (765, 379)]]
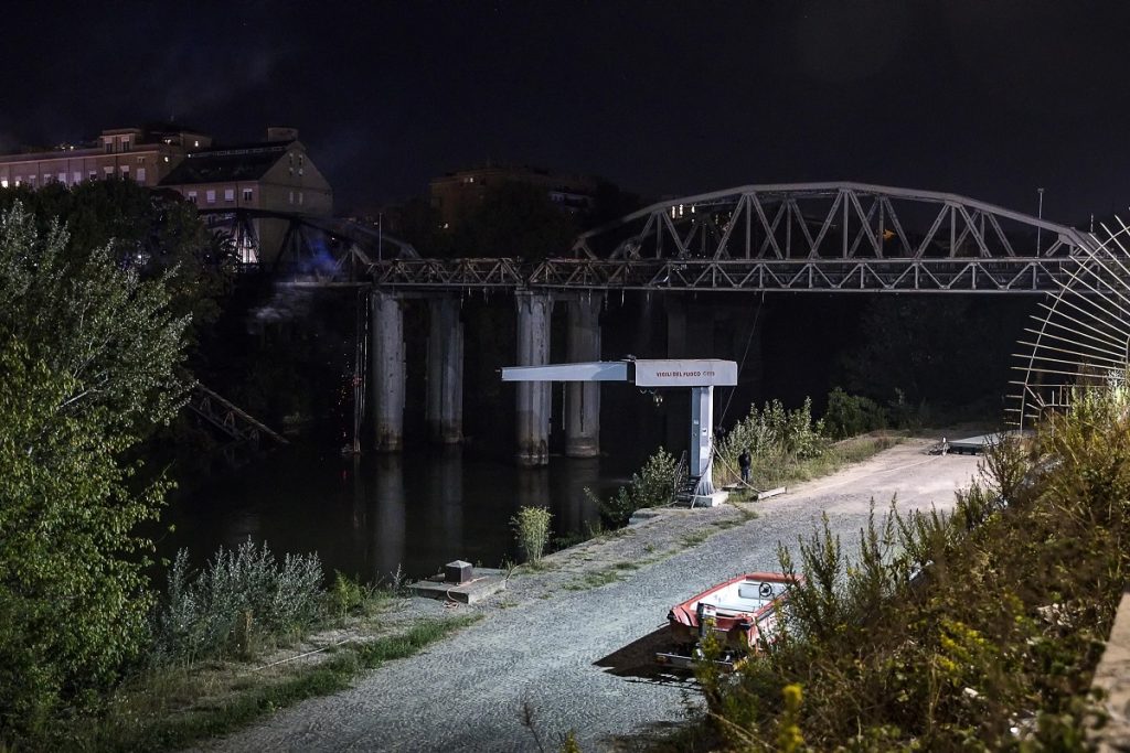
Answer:
[[(600, 360), (600, 294), (581, 294), (568, 301), (568, 361)], [(570, 382), (565, 393), (565, 454), (600, 455), (600, 383)]]

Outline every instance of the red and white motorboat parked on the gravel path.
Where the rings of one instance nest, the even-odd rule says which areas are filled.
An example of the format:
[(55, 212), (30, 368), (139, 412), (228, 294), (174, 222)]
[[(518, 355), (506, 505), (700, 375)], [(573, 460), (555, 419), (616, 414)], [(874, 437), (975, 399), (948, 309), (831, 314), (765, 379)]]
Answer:
[(698, 642), (707, 634), (722, 643), (721, 664), (734, 662), (772, 642), (779, 630), (779, 606), (799, 576), (748, 572), (676, 604), (667, 615), (676, 650), (655, 654), (659, 664), (690, 668), (701, 656)]

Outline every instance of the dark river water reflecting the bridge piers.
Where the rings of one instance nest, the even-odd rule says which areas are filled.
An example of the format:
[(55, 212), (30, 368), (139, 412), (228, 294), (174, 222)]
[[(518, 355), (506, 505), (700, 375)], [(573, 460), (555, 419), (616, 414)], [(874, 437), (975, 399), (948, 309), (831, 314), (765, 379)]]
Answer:
[(599, 520), (585, 487), (608, 496), (638, 465), (553, 457), (548, 469), (527, 470), (470, 455), (452, 447), (355, 462), (280, 450), (174, 502), (164, 520), (175, 529), (160, 537), (158, 553), (186, 548), (199, 564), (250, 536), (279, 558), (316, 551), (327, 572), (366, 581), (388, 579), (398, 567), (427, 575), (455, 559), (498, 567), (516, 559), (508, 520), (520, 507), (548, 507), (554, 536), (584, 532)]

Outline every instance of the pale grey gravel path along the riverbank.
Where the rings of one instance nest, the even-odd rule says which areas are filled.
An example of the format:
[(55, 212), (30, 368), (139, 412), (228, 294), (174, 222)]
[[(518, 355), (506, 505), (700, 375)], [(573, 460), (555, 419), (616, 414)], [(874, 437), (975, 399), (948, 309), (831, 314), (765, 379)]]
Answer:
[[(672, 604), (736, 573), (779, 569), (777, 542), (808, 535), (822, 513), (849, 544), (872, 498), (879, 513), (895, 494), (899, 509), (948, 509), (976, 458), (925, 455), (925, 446), (898, 445), (754, 504), (755, 519), (734, 506), (670, 510), (558, 553), (549, 570), (476, 606), (486, 619), (473, 627), (205, 750), (536, 751), (523, 706), (546, 750), (570, 729), (584, 751), (616, 747), (616, 736), (677, 721), (696, 703), (647, 662)], [(619, 579), (591, 587), (583, 578), (593, 572)]]

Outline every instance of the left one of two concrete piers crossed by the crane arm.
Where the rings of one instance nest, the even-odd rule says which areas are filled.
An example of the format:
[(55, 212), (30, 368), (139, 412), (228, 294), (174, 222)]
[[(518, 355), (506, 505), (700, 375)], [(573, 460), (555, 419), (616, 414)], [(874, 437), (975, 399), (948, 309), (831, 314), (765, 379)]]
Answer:
[[(549, 317), (553, 298), (546, 294), (519, 291), (518, 365), (541, 366), (549, 362)], [(550, 384), (518, 383), (518, 463), (525, 466), (549, 465)]]

